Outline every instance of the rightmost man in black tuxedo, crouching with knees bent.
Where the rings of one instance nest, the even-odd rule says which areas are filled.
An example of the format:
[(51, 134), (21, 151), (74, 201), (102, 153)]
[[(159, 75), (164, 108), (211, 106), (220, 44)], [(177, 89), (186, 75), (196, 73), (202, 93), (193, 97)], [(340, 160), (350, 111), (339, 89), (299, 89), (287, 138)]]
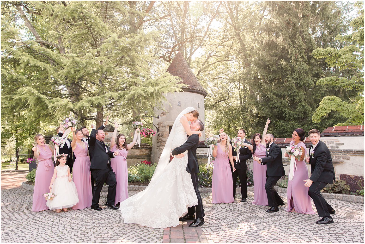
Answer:
[(309, 157), (306, 162), (311, 165), (311, 177), (304, 180), (304, 186), (309, 187), (308, 195), (313, 199), (319, 217), (317, 224), (332, 224), (333, 218), (330, 214), (334, 214), (335, 210), (324, 200), (320, 191), (332, 184), (335, 179), (335, 169), (332, 164), (331, 153), (326, 144), (320, 141), (319, 130), (310, 130), (308, 132), (309, 140), (312, 142), (308, 152)]

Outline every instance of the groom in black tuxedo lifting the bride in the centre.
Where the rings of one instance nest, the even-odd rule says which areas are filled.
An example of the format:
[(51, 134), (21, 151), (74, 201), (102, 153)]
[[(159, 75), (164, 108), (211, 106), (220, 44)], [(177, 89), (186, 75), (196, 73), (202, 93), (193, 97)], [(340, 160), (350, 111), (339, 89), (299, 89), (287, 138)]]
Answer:
[[(192, 131), (203, 131), (204, 123), (197, 119), (190, 124), (190, 129)], [(196, 157), (196, 149), (199, 144), (199, 136), (198, 134), (192, 134), (189, 136), (188, 140), (181, 146), (172, 150), (172, 156), (176, 156), (177, 158), (182, 158), (185, 155), (182, 154), (186, 150), (188, 150), (188, 165), (186, 167), (186, 171), (190, 173), (191, 180), (194, 185), (194, 190), (196, 193), (196, 197), (198, 198), (198, 204), (196, 206), (188, 207), (188, 213), (183, 217), (180, 217), (180, 221), (186, 220), (194, 220), (189, 227), (197, 227), (204, 224), (204, 209), (203, 202), (201, 202), (199, 185), (198, 185), (198, 173), (199, 173), (199, 165)], [(195, 217), (196, 213), (196, 217)]]

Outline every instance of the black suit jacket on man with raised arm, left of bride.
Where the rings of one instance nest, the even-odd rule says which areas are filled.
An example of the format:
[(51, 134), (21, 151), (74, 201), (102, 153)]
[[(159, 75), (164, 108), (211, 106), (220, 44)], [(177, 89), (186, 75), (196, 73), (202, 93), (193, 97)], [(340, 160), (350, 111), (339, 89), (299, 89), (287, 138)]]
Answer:
[[(98, 130), (99, 129), (104, 129), (104, 126), (101, 125)], [(110, 158), (113, 158), (114, 154), (110, 151), (107, 145), (96, 140), (95, 134), (96, 130), (91, 130), (89, 140), (89, 153), (91, 152), (92, 156), (90, 169), (106, 169), (108, 163), (110, 164)], [(105, 149), (105, 147), (107, 149)]]

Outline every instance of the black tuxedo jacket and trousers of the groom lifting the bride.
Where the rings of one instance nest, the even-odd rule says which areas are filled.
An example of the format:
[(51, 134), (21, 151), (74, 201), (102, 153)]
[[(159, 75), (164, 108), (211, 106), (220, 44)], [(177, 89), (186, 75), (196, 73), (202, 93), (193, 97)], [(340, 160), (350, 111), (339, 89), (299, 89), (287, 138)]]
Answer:
[(192, 134), (183, 145), (173, 149), (171, 154), (178, 155), (188, 150), (188, 165), (186, 167), (186, 171), (190, 173), (196, 197), (198, 198), (198, 204), (196, 206), (188, 207), (188, 213), (189, 215), (193, 215), (196, 212), (197, 218), (203, 218), (205, 214), (203, 209), (203, 202), (201, 201), (197, 174), (199, 173), (199, 165), (196, 157), (196, 149), (198, 148), (198, 144), (199, 136), (197, 134)]

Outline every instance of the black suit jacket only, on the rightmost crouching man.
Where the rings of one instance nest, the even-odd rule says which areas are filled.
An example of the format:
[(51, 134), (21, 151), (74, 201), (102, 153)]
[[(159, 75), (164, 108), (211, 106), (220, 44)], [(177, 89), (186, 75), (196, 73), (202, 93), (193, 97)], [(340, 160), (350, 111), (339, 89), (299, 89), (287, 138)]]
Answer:
[[(311, 153), (309, 150), (308, 154)], [(320, 182), (325, 182), (332, 184), (335, 179), (335, 169), (332, 164), (332, 158), (330, 149), (324, 144), (324, 142), (319, 141), (318, 145), (314, 148), (314, 155), (309, 155), (309, 164), (311, 165), (311, 178), (312, 182), (317, 180)]]

